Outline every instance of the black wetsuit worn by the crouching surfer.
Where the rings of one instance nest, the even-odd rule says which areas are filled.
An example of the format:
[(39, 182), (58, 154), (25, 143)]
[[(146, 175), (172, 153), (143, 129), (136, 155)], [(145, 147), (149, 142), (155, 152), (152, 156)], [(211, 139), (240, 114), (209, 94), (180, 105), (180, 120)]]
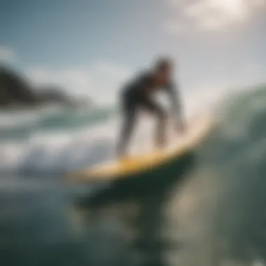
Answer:
[(169, 94), (172, 102), (173, 111), (176, 115), (180, 115), (179, 97), (173, 83), (169, 83), (160, 88), (155, 85), (152, 73), (142, 73), (129, 84), (123, 87), (120, 94), (120, 105), (123, 112), (123, 126), (120, 134), (118, 153), (123, 155), (127, 142), (130, 139), (134, 124), (136, 121), (137, 111), (139, 109), (147, 110), (158, 118), (158, 130), (156, 132), (156, 140), (158, 145), (164, 142), (164, 130), (166, 121), (166, 112), (160, 104), (152, 99), (152, 94), (158, 91), (165, 91)]

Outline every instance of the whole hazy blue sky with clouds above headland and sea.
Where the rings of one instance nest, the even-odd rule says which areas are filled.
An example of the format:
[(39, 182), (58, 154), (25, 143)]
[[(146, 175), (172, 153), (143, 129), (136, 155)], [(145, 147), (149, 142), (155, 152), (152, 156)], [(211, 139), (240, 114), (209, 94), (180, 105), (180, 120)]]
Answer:
[[(265, 81), (266, 0), (2, 0), (0, 59), (33, 83), (113, 101), (170, 55), (185, 94)], [(176, 74), (177, 75), (177, 74)]]

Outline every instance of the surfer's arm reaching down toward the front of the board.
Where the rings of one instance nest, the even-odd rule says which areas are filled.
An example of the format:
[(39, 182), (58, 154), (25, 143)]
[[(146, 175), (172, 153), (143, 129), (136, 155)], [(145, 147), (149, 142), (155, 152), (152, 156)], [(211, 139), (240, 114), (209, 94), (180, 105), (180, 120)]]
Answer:
[(183, 118), (183, 106), (181, 104), (181, 97), (179, 87), (173, 83), (167, 86), (167, 92), (171, 104), (171, 113), (174, 117), (175, 125), (179, 130), (183, 130), (184, 118)]

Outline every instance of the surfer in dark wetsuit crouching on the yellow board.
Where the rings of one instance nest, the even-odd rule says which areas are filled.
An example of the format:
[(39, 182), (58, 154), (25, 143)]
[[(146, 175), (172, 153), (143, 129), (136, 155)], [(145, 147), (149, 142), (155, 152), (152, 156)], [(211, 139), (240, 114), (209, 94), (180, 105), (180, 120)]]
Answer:
[(119, 157), (125, 155), (125, 149), (134, 130), (139, 110), (146, 110), (157, 118), (155, 144), (159, 147), (165, 145), (167, 112), (153, 99), (154, 92), (165, 91), (169, 94), (172, 113), (176, 116), (176, 130), (183, 132), (184, 123), (179, 92), (172, 82), (173, 70), (174, 63), (171, 59), (160, 58), (150, 71), (141, 73), (140, 76), (123, 87), (120, 93), (123, 125), (118, 139), (117, 153)]

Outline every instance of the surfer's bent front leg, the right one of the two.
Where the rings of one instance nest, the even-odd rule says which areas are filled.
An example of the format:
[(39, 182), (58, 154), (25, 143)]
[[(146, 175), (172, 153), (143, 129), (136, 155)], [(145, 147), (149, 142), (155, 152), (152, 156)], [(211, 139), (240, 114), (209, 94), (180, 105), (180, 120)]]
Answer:
[(144, 99), (144, 108), (153, 113), (157, 120), (157, 126), (155, 129), (155, 145), (162, 147), (166, 143), (166, 125), (167, 125), (167, 115), (165, 110), (157, 102), (153, 102), (152, 99)]

